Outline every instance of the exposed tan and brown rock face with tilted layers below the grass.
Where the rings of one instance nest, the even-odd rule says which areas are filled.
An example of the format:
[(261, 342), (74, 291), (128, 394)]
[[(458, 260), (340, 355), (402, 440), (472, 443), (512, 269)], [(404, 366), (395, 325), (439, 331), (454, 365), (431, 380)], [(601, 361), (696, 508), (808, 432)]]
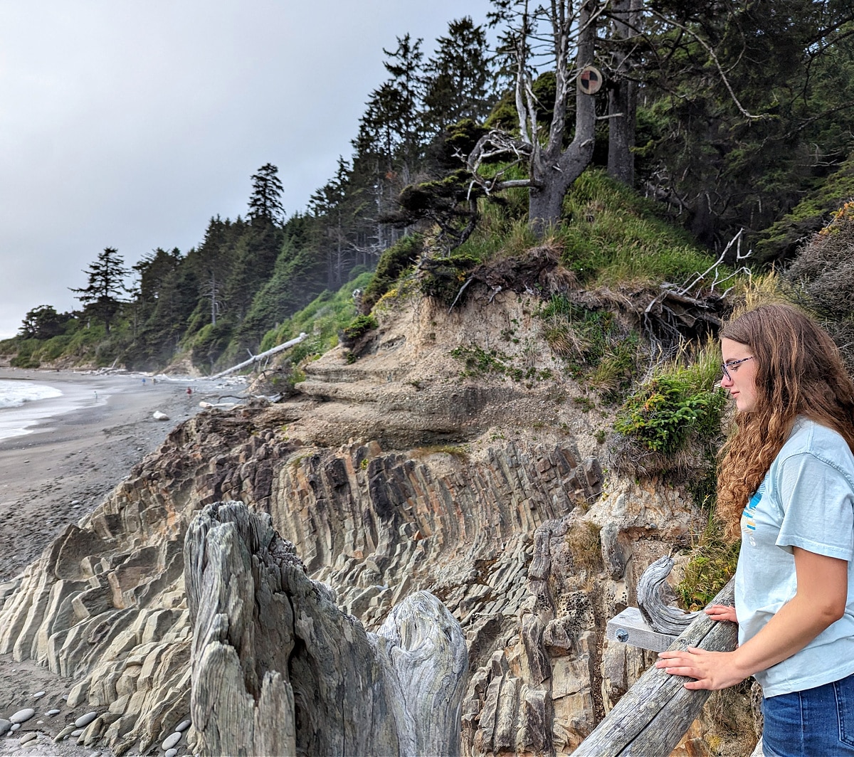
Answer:
[[(570, 751), (642, 667), (640, 653), (608, 648), (605, 620), (695, 515), (676, 490), (611, 479), (603, 492), (595, 419), (563, 382), (462, 381), (447, 339), (490, 318), (532, 323), (515, 295), (486, 317), (424, 306), (359, 363), (323, 358), (288, 403), (204, 411), (175, 429), (0, 586), (0, 653), (75, 678), (69, 704), (100, 713), (90, 742), (149, 748), (190, 710), (200, 639), (184, 538), (205, 506), (240, 500), (270, 515), (307, 576), (367, 632), (419, 590), (459, 620), (471, 667), (464, 754)], [(292, 668), (284, 656), (277, 664)], [(257, 685), (263, 698), (264, 676)], [(269, 685), (265, 702), (284, 706), (284, 678)], [(189, 740), (201, 748), (198, 725)]]

